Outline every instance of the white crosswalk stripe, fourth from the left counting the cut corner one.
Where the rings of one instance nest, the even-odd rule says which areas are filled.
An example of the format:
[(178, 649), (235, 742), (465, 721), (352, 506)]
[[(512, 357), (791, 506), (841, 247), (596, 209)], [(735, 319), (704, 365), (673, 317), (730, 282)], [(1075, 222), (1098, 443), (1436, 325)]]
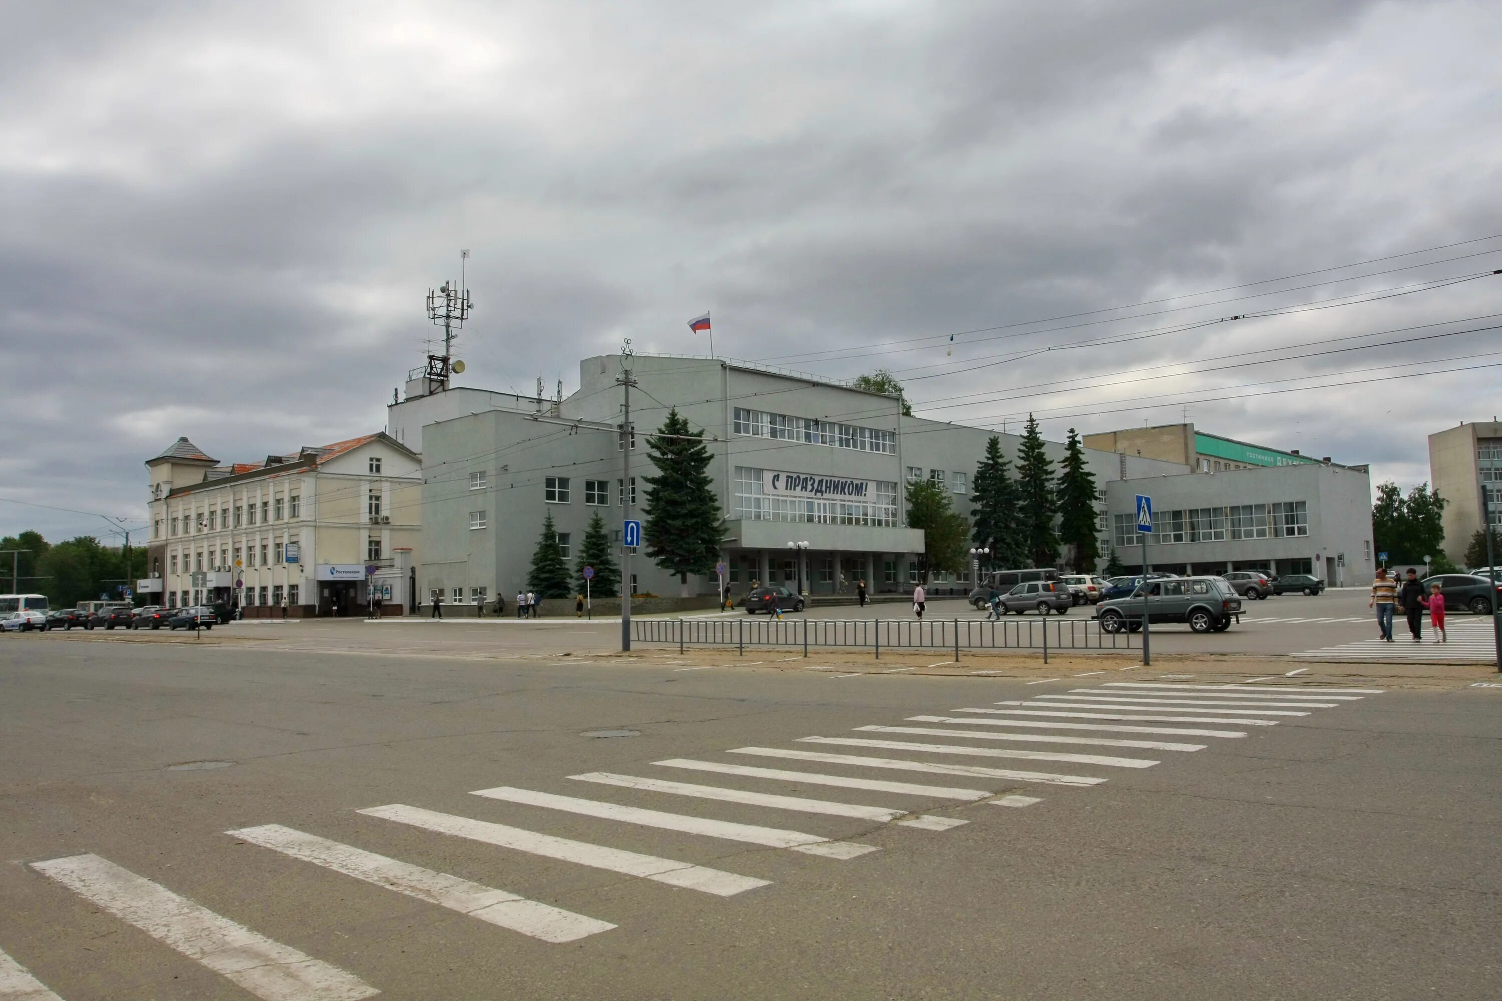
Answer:
[(356, 812), (365, 813), (366, 816), (380, 816), (382, 819), (397, 821), (398, 824), (410, 824), (412, 827), (421, 827), (430, 831), (439, 831), (440, 834), (454, 834), (455, 837), (467, 837), (487, 845), (514, 848), (530, 855), (557, 858), (559, 861), (572, 861), (580, 866), (590, 866), (592, 869), (605, 869), (608, 872), (620, 872), (628, 876), (640, 876), (655, 882), (665, 882), (671, 887), (712, 893), (719, 897), (728, 897), (746, 890), (771, 885), (769, 879), (739, 876), (733, 872), (706, 869), (704, 866), (691, 866), (686, 861), (656, 858), (655, 855), (643, 855), (634, 851), (590, 845), (587, 842), (569, 840), (566, 837), (553, 837), (551, 834), (539, 834), (520, 827), (506, 827), (505, 824), (476, 821), (469, 816), (455, 816), (454, 813), (425, 810), (419, 806), (392, 803), (391, 806), (371, 806)]

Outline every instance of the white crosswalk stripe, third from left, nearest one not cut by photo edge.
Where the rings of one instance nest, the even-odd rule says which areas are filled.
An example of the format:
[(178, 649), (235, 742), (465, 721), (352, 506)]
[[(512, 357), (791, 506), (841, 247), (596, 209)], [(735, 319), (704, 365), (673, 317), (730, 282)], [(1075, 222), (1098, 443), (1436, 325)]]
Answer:
[(225, 831), (225, 834), (428, 903), (437, 903), (460, 914), (478, 917), (532, 938), (541, 938), (545, 942), (572, 942), (616, 927), (608, 921), (598, 921), (583, 914), (527, 900), (515, 893), (494, 890), (446, 872), (397, 861), (281, 824), (242, 827)]

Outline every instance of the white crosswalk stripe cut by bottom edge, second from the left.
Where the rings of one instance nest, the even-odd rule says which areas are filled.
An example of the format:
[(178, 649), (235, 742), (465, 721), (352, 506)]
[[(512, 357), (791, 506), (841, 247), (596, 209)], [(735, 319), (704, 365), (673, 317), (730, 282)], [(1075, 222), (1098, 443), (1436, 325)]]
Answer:
[(263, 1001), (356, 1001), (359, 977), (258, 935), (99, 855), (33, 861), (42, 875)]

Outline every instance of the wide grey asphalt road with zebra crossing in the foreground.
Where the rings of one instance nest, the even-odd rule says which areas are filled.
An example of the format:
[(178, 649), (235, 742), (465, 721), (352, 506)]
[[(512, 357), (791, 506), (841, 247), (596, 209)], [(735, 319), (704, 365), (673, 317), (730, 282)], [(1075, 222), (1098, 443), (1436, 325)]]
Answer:
[[(0, 998), (1502, 992), (1490, 675), (1163, 689), (1140, 686), (1251, 675), (581, 662), (544, 629), (482, 659), (329, 629), (362, 647), (0, 642)], [(807, 756), (831, 753), (897, 764)]]

